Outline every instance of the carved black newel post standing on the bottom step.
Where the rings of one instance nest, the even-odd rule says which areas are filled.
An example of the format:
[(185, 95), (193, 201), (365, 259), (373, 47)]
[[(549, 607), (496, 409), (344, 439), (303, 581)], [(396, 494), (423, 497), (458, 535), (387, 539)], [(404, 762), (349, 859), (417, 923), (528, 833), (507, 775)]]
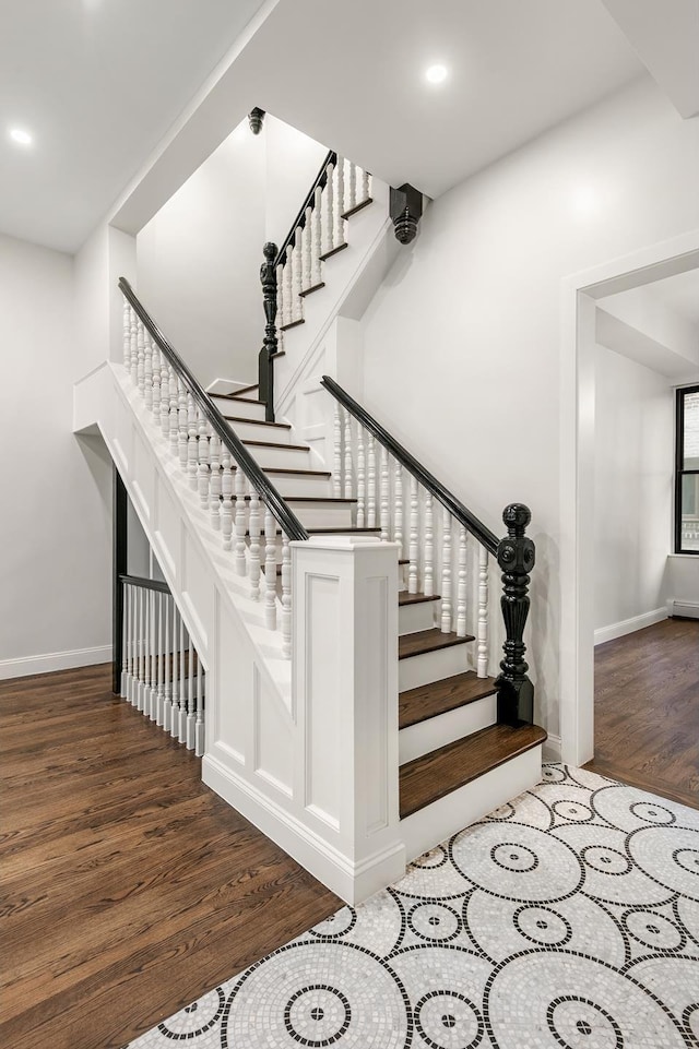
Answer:
[(496, 680), (498, 690), (498, 722), (510, 725), (534, 720), (534, 686), (526, 676), (524, 660), (526, 645), (522, 641), (529, 616), (529, 573), (534, 568), (536, 550), (524, 532), (532, 520), (529, 506), (511, 503), (502, 512), (508, 534), (498, 544), (498, 564), (502, 569), (503, 591), (500, 598), (507, 640), (502, 645), (505, 658)]

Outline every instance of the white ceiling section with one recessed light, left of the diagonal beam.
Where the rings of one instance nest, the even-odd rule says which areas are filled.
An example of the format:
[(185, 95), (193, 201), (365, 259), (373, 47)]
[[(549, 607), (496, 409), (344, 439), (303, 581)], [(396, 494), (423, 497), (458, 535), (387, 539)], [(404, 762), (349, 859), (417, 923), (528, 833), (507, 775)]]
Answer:
[(0, 230), (79, 248), (261, 3), (2, 0)]

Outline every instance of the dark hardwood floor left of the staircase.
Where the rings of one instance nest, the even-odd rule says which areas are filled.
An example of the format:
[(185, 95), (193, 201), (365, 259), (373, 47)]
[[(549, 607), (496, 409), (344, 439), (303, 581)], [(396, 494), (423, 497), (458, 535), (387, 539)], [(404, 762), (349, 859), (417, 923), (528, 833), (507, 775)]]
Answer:
[(109, 691), (0, 682), (0, 1045), (125, 1046), (341, 901)]

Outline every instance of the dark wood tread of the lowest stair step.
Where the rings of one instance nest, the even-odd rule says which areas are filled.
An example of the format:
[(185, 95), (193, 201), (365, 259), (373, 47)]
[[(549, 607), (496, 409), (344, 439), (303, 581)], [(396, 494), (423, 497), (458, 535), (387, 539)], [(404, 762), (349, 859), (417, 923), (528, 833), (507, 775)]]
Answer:
[(401, 819), (543, 743), (538, 725), (489, 725), (408, 761), (400, 771)]

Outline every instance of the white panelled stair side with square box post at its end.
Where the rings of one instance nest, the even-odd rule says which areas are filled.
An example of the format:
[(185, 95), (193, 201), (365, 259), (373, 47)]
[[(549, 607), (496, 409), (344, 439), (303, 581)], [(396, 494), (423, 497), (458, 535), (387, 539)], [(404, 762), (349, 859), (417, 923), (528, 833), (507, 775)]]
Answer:
[[(398, 818), (398, 724), (391, 722), (398, 675), (395, 660), (389, 657), (398, 637), (395, 547), (371, 538), (354, 546), (346, 538), (333, 538), (330, 546), (344, 544), (344, 549), (327, 555), (311, 549), (312, 539), (292, 544), (293, 572), (301, 552), (311, 558), (311, 570), (313, 558), (330, 559), (316, 605), (309, 606), (308, 630), (300, 644), (309, 653), (331, 642), (336, 646), (332, 668), (340, 675), (340, 687), (333, 684), (330, 693), (342, 692), (343, 706), (323, 723), (330, 694), (324, 661), (315, 660), (319, 678), (307, 668), (310, 683), (295, 698), (292, 661), (284, 658), (281, 633), (265, 627), (264, 601), (252, 600), (249, 580), (235, 573), (232, 551), (223, 550), (221, 533), (212, 527), (210, 513), (201, 508), (169, 441), (121, 365), (106, 361), (74, 386), (73, 431), (96, 430), (117, 465), (206, 671), (204, 783), (350, 903), (400, 878), (405, 850)], [(335, 524), (323, 503), (313, 513), (322, 525), (328, 514), (330, 524)], [(355, 600), (353, 571), (363, 559), (370, 572), (366, 584), (357, 580)], [(344, 568), (332, 585), (335, 561)], [(312, 571), (310, 576), (316, 579)], [(353, 608), (353, 603), (362, 606), (355, 620), (365, 651), (356, 659), (357, 642), (347, 640), (351, 632), (345, 629), (347, 600)], [(321, 609), (319, 615), (316, 607)], [(367, 609), (374, 609), (376, 629), (363, 633), (370, 619)], [(294, 606), (293, 622), (293, 635), (300, 634), (303, 624)], [(328, 635), (327, 624), (341, 622), (336, 636)], [(298, 663), (298, 644), (294, 651)], [(376, 659), (383, 669), (368, 678)], [(351, 686), (355, 678), (356, 687)], [(358, 739), (370, 734), (367, 746), (356, 749), (354, 722)], [(340, 730), (341, 723), (346, 731)], [(357, 800), (356, 791), (363, 796), (371, 783), (377, 784), (376, 790)], [(370, 824), (362, 830), (365, 813)]]

